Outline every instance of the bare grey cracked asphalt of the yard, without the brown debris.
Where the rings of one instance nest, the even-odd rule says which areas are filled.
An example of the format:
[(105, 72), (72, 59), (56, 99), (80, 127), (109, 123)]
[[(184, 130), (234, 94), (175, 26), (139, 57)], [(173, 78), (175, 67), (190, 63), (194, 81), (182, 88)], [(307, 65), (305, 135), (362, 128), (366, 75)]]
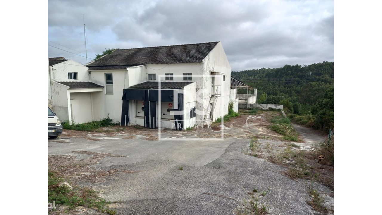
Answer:
[[(49, 140), (49, 155), (83, 155), (74, 150), (123, 155), (105, 157), (93, 168), (127, 169), (104, 182), (81, 182), (100, 191), (117, 214), (233, 214), (238, 203), (206, 195), (226, 195), (243, 201), (253, 189), (265, 191), (262, 203), (270, 214), (315, 214), (306, 204), (303, 181), (293, 181), (278, 172), (283, 167), (244, 155), (249, 140), (230, 138), (214, 141), (69, 138)], [(183, 170), (179, 167), (183, 166)], [(317, 184), (322, 192), (331, 191)]]

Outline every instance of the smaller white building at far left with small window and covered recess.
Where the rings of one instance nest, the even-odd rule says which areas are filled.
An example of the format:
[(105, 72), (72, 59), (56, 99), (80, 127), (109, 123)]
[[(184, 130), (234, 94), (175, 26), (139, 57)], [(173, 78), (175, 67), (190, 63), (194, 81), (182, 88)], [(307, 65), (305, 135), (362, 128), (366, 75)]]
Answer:
[(84, 123), (98, 118), (93, 111), (103, 105), (97, 103), (103, 89), (89, 81), (86, 66), (63, 57), (49, 58), (48, 106), (62, 121)]

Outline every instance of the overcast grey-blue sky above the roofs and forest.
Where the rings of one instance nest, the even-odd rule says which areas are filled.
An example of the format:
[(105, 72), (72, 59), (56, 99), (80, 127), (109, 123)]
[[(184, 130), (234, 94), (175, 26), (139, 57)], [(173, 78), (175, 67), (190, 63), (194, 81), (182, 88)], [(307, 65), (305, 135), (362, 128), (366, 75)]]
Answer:
[(89, 61), (105, 48), (212, 41), (233, 71), (334, 61), (332, 0), (48, 0), (49, 57), (86, 63), (83, 14)]

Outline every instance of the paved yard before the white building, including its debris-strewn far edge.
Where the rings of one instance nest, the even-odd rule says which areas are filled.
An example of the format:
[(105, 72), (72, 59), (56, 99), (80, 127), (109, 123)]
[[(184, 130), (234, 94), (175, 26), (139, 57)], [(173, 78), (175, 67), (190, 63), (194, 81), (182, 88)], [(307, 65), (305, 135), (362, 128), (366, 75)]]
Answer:
[[(91, 159), (94, 152), (109, 153), (98, 156), (98, 163), (93, 162), (91, 168), (134, 171), (118, 171), (96, 180), (100, 182), (79, 181), (112, 201), (110, 206), (117, 214), (228, 215), (239, 206), (237, 202), (203, 193), (225, 195), (243, 202), (244, 198), (249, 199), (248, 192), (253, 189), (258, 192), (269, 189), (261, 204), (267, 205), (270, 214), (317, 214), (306, 203), (309, 196), (303, 180), (287, 178), (280, 174), (285, 167), (243, 153), (254, 135), (264, 145), (269, 143), (275, 148), (285, 145), (282, 137), (269, 129), (270, 119), (277, 114), (282, 116), (278, 112), (263, 111), (256, 116), (243, 114), (233, 118), (224, 125), (224, 140), (184, 139), (220, 138), (220, 125), (181, 132), (163, 130), (162, 138), (166, 140), (158, 140), (157, 130), (132, 126), (122, 130), (107, 128), (105, 133), (64, 130), (60, 139), (48, 140), (48, 155), (74, 155), (76, 160), (86, 160)], [(296, 143), (301, 149), (309, 150), (324, 140), (311, 129), (294, 127), (301, 132), (303, 142)], [(110, 154), (120, 156), (107, 156)], [(319, 192), (333, 194), (329, 188), (314, 184)], [(334, 204), (329, 196), (325, 202), (329, 202), (328, 207)]]

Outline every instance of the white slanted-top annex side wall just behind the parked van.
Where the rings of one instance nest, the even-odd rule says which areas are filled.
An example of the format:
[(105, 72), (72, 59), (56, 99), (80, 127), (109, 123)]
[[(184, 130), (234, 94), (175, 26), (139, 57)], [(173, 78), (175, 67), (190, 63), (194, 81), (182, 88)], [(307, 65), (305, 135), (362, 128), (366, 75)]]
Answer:
[(52, 81), (52, 98), (53, 98), (53, 112), (61, 121), (68, 121), (70, 119), (70, 112), (68, 109), (68, 86)]

